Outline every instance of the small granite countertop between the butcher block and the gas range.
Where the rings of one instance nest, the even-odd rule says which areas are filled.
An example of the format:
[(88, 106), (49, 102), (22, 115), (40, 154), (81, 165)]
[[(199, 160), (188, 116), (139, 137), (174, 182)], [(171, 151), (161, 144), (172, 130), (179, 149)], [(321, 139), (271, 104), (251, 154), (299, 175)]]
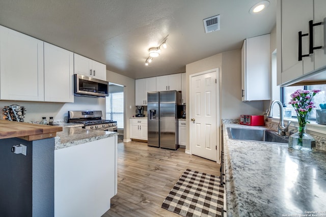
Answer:
[(74, 127), (69, 125), (63, 127), (62, 132), (57, 133), (55, 137), (55, 150), (117, 135), (117, 132), (86, 130), (77, 128), (76, 125)]

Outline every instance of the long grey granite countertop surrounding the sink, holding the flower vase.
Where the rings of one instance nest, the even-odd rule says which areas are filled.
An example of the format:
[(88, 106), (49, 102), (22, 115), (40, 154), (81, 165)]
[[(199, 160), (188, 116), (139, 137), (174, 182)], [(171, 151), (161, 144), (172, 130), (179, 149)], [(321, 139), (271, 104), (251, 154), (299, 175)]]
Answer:
[(326, 216), (325, 151), (229, 139), (227, 127), (264, 127), (223, 125), (228, 217)]

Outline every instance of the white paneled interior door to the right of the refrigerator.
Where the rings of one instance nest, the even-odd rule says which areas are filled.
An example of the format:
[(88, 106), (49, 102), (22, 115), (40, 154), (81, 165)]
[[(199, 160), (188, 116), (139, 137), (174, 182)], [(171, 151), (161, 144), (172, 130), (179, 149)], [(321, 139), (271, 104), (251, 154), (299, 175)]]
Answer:
[(191, 152), (217, 161), (216, 74), (218, 70), (191, 77)]

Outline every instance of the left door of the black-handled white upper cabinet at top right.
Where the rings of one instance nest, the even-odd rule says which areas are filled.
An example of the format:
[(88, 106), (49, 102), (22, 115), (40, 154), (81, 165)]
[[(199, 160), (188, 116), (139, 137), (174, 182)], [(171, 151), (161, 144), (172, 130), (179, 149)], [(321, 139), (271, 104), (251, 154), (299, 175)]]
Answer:
[[(314, 68), (313, 55), (298, 60), (298, 32), (309, 33), (309, 20), (313, 19), (313, 1), (287, 0), (281, 1), (280, 6), (281, 39), (278, 43), (282, 43), (282, 59), (278, 59), (277, 64), (281, 64), (279, 76), (281, 83), (285, 83), (311, 72)], [(309, 54), (309, 36), (302, 37), (302, 54)]]

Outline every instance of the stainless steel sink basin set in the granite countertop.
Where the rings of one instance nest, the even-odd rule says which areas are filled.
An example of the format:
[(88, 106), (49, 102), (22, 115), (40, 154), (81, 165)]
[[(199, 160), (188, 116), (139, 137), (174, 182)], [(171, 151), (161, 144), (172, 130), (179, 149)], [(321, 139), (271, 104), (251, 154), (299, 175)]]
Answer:
[(227, 128), (230, 139), (288, 144), (289, 138), (264, 129)]

